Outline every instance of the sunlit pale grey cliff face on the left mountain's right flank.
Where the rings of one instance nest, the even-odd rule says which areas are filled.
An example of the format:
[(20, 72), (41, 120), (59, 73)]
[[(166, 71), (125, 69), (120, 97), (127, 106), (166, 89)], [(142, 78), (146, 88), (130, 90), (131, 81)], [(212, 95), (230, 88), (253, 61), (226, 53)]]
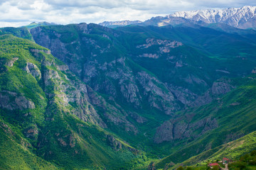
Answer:
[[(48, 62), (43, 62), (43, 64), (49, 65)], [(59, 70), (68, 71), (67, 66), (56, 66)], [(55, 103), (56, 98), (60, 98), (61, 105), (69, 106), (72, 105), (75, 110), (71, 111), (78, 118), (84, 120), (85, 122), (95, 123), (100, 125), (102, 128), (106, 128), (107, 125), (102, 121), (100, 115), (97, 114), (95, 108), (90, 104), (90, 98), (87, 96), (87, 86), (83, 84), (78, 79), (70, 80), (68, 77), (60, 76), (61, 72), (57, 72), (53, 69), (46, 69), (43, 74), (43, 81), (46, 86), (54, 86), (57, 94), (53, 94), (53, 91), (46, 91), (48, 98), (51, 100), (49, 103)], [(72, 73), (69, 72), (72, 75)], [(73, 75), (75, 77), (75, 75)], [(69, 81), (67, 84), (65, 81)], [(58, 100), (58, 102), (60, 102)]]

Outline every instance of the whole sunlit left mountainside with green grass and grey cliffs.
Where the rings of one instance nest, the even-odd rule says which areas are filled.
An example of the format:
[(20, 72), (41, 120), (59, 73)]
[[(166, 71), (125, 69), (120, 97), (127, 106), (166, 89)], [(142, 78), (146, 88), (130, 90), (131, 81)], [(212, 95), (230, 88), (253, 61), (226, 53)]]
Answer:
[[(109, 103), (77, 79), (48, 49), (12, 35), (1, 35), (0, 40), (1, 167), (131, 166), (129, 162), (137, 150), (99, 127), (105, 124), (97, 109), (113, 109)], [(10, 142), (6, 143), (6, 139)], [(13, 164), (9, 156), (15, 154), (21, 160)]]

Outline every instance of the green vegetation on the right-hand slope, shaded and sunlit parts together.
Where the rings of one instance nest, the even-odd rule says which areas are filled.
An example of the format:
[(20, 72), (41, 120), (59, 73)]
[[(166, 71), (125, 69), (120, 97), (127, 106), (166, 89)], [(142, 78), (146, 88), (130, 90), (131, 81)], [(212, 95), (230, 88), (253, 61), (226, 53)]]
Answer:
[[(256, 110), (255, 82), (255, 75), (243, 79), (234, 79), (233, 84), (238, 86), (238, 88), (230, 91), (230, 93), (218, 99), (218, 101), (177, 113), (181, 116), (190, 115), (191, 113), (196, 114), (193, 117), (193, 121), (201, 120), (207, 116), (216, 118), (218, 120), (218, 128), (206, 132), (206, 134), (190, 142), (178, 152), (174, 152), (162, 159), (156, 164), (157, 167), (162, 167), (169, 162), (181, 163), (186, 159), (188, 160), (184, 164), (188, 165), (196, 164), (206, 159), (221, 159), (221, 157), (238, 159), (241, 154), (255, 149), (255, 132), (253, 131), (256, 125), (255, 121), (252, 121), (255, 119)], [(234, 145), (231, 142), (234, 138), (240, 138), (250, 132), (253, 133), (236, 141)], [(230, 134), (233, 137), (230, 137)], [(243, 142), (245, 143), (243, 144)], [(235, 146), (242, 148), (238, 147), (237, 151)], [(213, 149), (207, 149), (208, 147)], [(229, 148), (233, 149), (230, 150)], [(193, 157), (200, 152), (203, 153)], [(183, 153), (186, 154), (184, 155)], [(190, 157), (191, 159), (189, 159)]]

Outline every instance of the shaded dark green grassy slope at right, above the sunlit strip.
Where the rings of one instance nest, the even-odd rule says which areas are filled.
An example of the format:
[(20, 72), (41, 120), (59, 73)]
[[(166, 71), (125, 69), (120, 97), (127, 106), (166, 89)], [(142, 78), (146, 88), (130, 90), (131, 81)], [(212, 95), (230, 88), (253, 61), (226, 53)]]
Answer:
[(252, 121), (256, 119), (255, 75), (235, 81), (240, 86), (230, 91), (230, 93), (218, 101), (180, 113), (183, 115), (195, 114), (194, 121), (210, 115), (218, 120), (218, 128), (210, 130), (177, 152), (161, 159), (157, 167), (163, 167), (170, 162), (183, 162), (196, 154), (218, 147), (255, 131), (256, 122)]

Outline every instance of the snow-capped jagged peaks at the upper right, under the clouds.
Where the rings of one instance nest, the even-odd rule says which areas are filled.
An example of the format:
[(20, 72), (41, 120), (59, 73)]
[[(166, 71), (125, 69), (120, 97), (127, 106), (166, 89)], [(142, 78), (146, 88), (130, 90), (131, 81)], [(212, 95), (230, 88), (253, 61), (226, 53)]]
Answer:
[(169, 15), (169, 17), (183, 17), (193, 21), (203, 21), (205, 23), (226, 23), (236, 28), (255, 28), (256, 6), (180, 11)]

